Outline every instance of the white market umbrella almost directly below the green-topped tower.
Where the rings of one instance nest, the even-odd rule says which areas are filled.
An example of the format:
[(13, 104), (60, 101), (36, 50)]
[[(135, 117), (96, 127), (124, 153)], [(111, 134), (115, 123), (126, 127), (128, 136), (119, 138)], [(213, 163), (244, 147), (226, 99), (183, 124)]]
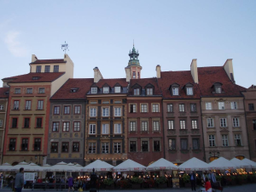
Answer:
[(115, 172), (127, 172), (127, 171), (139, 172), (144, 170), (146, 170), (146, 167), (130, 159), (120, 163), (117, 167), (113, 168), (113, 171)]

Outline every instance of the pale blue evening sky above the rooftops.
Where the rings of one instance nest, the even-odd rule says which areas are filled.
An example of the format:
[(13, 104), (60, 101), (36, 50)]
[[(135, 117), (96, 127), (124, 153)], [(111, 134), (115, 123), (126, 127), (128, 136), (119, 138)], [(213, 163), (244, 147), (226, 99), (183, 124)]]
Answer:
[[(74, 77), (125, 77), (132, 41), (143, 78), (161, 71), (221, 66), (233, 59), (236, 83), (256, 84), (256, 1), (0, 0), (0, 79), (29, 72), (32, 54), (61, 59), (67, 41)], [(1, 87), (2, 85), (0, 85)]]

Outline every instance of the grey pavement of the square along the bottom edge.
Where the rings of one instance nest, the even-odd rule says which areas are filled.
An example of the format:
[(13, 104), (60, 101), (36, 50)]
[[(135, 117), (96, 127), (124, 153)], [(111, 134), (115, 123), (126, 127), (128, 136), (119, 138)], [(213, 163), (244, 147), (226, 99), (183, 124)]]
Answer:
[[(200, 191), (201, 188), (197, 187), (196, 188), (196, 191)], [(0, 189), (0, 192), (10, 192), (11, 189)], [(32, 191), (31, 189), (23, 189), (22, 190), (23, 192), (28, 192), (28, 191)], [(34, 190), (35, 192), (54, 192), (56, 190), (54, 189), (48, 189), (48, 190), (39, 190), (39, 189), (35, 189)], [(62, 190), (63, 192), (67, 192), (67, 189), (63, 189)], [(158, 191), (163, 191), (163, 192), (189, 192), (189, 191), (192, 191), (191, 189), (184, 189), (184, 188), (181, 188), (181, 189), (113, 189), (113, 190), (106, 190), (106, 189), (100, 189), (100, 190), (97, 190), (99, 192), (110, 192), (110, 191), (114, 191), (114, 192), (146, 192), (146, 191), (149, 191), (149, 192), (158, 192)], [(59, 191), (61, 192), (61, 191)], [(78, 192), (78, 191), (75, 191), (75, 192)], [(86, 190), (86, 192), (90, 192), (89, 190)], [(217, 191), (219, 192), (219, 190)], [(224, 187), (224, 190), (223, 192), (256, 192), (256, 184), (243, 184), (243, 185), (239, 185), (239, 186), (231, 186), (231, 187)]]

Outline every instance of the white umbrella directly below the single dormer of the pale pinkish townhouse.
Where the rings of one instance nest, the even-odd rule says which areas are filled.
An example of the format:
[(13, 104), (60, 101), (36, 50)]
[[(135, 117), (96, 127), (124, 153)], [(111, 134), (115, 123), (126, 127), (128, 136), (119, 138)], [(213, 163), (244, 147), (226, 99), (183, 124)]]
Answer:
[(239, 168), (239, 166), (236, 166), (233, 162), (225, 159), (224, 157), (219, 157), (216, 160), (213, 160), (208, 164), (209, 169), (236, 169)]

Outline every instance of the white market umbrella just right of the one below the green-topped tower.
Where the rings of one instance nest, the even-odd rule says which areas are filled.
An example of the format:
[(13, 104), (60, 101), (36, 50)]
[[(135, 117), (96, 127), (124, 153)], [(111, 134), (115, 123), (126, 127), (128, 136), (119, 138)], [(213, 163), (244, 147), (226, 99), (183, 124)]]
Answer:
[(174, 165), (171, 161), (167, 161), (164, 158), (160, 158), (158, 161), (155, 161), (150, 166), (146, 168), (150, 170), (177, 170), (177, 166)]

